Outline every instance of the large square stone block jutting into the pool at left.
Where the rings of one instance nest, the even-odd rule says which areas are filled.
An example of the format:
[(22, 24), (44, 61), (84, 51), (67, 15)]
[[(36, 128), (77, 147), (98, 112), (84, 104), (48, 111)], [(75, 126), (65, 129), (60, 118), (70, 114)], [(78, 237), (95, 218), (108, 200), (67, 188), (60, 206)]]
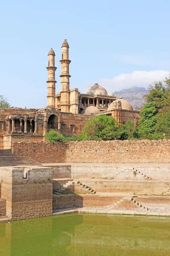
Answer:
[[(13, 220), (52, 214), (52, 169), (0, 169), (2, 198), (6, 199), (6, 215)], [(26, 175), (27, 173), (27, 175)]]

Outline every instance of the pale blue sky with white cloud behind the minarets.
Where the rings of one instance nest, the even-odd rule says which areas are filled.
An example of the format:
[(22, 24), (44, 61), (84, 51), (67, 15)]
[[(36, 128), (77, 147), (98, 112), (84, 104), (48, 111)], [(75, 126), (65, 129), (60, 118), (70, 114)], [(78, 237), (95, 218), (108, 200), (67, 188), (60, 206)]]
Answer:
[(148, 87), (170, 75), (169, 0), (0, 1), (0, 95), (14, 107), (47, 105), (48, 51), (67, 38), (70, 88)]

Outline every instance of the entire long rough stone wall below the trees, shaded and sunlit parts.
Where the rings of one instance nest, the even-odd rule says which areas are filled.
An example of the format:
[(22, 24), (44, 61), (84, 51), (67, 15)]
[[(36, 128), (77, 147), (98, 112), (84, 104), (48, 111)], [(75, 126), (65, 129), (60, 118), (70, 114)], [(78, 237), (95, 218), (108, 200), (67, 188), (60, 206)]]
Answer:
[(170, 140), (12, 142), (12, 152), (40, 163), (170, 163)]

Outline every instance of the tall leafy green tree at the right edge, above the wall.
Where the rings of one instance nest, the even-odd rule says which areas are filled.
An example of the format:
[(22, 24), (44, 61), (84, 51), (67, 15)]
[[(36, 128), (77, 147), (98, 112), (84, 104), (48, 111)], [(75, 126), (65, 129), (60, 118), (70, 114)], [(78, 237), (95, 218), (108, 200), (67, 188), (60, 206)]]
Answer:
[(145, 96), (146, 104), (141, 110), (139, 132), (150, 140), (170, 137), (170, 79), (155, 82)]

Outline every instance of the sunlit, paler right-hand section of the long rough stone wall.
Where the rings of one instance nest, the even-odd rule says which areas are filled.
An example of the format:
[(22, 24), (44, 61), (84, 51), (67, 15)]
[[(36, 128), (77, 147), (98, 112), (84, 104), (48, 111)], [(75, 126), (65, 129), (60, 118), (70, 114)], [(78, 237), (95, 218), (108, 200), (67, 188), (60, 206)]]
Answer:
[(170, 163), (170, 140), (69, 142), (68, 163)]

